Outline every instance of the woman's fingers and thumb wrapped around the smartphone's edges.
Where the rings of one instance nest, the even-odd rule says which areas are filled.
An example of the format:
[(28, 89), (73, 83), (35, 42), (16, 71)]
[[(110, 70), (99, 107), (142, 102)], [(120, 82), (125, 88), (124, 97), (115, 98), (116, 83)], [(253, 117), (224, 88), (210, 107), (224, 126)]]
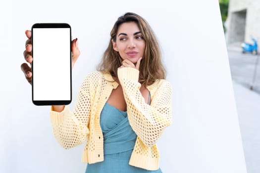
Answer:
[[(30, 63), (32, 66), (33, 57), (32, 57), (32, 44), (31, 44), (31, 36), (32, 32), (29, 30), (25, 31), (25, 35), (27, 36), (28, 40), (25, 42), (25, 50), (23, 52), (23, 56), (26, 60), (26, 62)], [(71, 51), (72, 51), (72, 68), (77, 61), (80, 51), (78, 47), (78, 39), (74, 39), (71, 43)], [(21, 70), (23, 71), (26, 80), (29, 82), (29, 84), (32, 85), (32, 69), (28, 66), (27, 63), (23, 63), (21, 65)]]

